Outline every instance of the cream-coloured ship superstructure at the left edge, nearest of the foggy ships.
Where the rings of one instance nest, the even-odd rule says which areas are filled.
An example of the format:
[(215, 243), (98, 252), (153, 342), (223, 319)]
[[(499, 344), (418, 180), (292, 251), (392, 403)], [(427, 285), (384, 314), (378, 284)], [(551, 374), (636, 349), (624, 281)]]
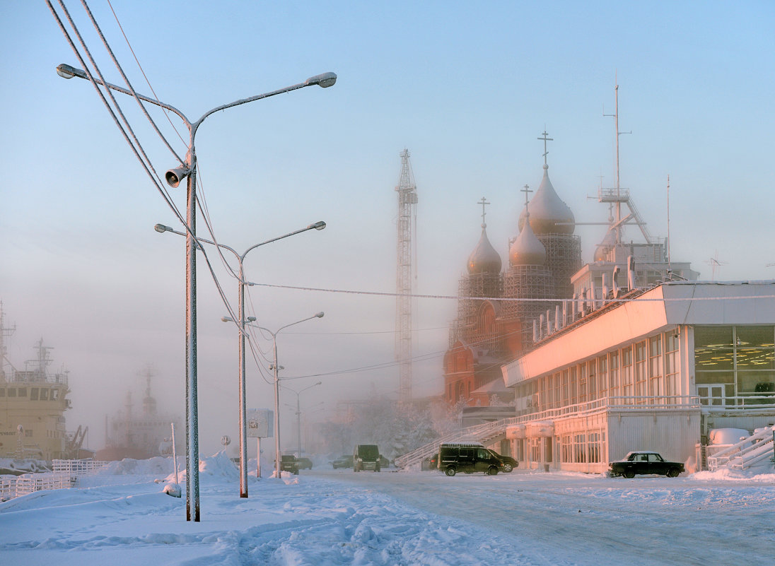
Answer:
[[(37, 341), (36, 358), (17, 369), (9, 360), (5, 340), (15, 325), (5, 323), (0, 303), (0, 458), (11, 458), (16, 468), (22, 461), (89, 458), (83, 448), (88, 427), (68, 432), (64, 412), (72, 408), (68, 373), (50, 372), (53, 362), (43, 338)], [(22, 466), (23, 467), (23, 466)]]

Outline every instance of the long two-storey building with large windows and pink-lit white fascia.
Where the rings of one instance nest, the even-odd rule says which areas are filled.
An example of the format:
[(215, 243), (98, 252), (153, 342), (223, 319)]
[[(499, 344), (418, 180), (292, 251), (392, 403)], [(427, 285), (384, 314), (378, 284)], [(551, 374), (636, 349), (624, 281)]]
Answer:
[[(634, 450), (703, 465), (712, 429), (775, 423), (775, 281), (670, 281), (580, 300), (506, 365), (525, 468), (604, 472)], [(600, 297), (594, 300), (591, 297)]]

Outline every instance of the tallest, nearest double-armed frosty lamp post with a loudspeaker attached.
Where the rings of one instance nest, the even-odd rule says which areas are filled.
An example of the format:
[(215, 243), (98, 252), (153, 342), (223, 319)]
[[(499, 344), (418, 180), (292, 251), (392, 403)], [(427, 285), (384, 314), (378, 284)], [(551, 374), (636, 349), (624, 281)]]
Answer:
[(188, 147), (185, 160), (181, 160), (180, 166), (168, 170), (165, 174), (167, 184), (171, 187), (177, 187), (184, 177), (188, 177), (186, 184), (186, 519), (191, 521), (199, 520), (199, 434), (198, 434), (198, 397), (197, 397), (197, 341), (196, 341), (196, 150), (194, 138), (199, 126), (209, 115), (215, 112), (232, 108), (269, 98), (275, 94), (296, 91), (299, 88), (311, 87), (330, 87), (336, 83), (336, 74), (323, 73), (309, 77), (306, 81), (299, 84), (293, 84), (290, 87), (284, 87), (277, 91), (271, 91), (264, 94), (257, 94), (249, 98), (242, 98), (225, 105), (220, 105), (212, 110), (206, 111), (201, 118), (191, 122), (186, 116), (174, 106), (157, 101), (155, 98), (147, 97), (130, 91), (127, 88), (119, 87), (115, 84), (105, 83), (98, 78), (88, 74), (86, 71), (76, 69), (70, 65), (61, 64), (57, 67), (57, 74), (60, 77), (71, 79), (78, 77), (91, 81), (94, 84), (102, 86), (113, 91), (128, 94), (140, 101), (145, 101), (152, 105), (157, 105), (177, 115), (188, 129)]

